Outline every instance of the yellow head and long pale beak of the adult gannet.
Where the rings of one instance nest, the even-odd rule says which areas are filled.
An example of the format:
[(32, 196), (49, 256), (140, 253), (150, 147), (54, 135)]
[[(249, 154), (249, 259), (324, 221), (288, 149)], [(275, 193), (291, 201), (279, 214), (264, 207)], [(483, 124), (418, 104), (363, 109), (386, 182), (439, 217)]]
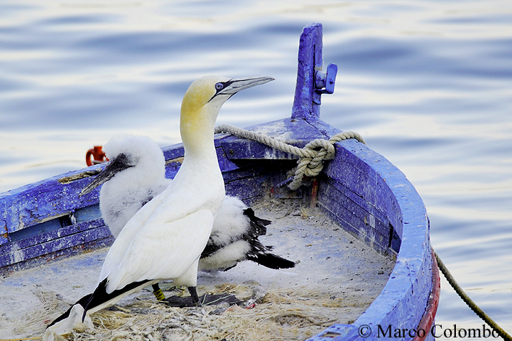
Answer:
[(217, 115), (229, 97), (271, 80), (272, 77), (229, 79), (207, 76), (192, 82), (181, 104), (180, 133), (185, 148), (193, 148), (197, 140), (212, 140)]

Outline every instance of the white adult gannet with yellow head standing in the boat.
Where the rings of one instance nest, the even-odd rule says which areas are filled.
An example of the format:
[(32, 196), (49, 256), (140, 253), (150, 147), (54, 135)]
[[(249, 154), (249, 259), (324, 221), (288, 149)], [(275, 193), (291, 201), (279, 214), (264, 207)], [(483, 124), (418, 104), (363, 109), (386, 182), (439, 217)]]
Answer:
[(173, 182), (126, 223), (112, 244), (99, 283), (85, 304), (105, 308), (129, 293), (172, 279), (198, 303), (197, 266), (224, 201), (224, 180), (214, 148), (214, 124), (222, 104), (240, 90), (271, 77), (202, 77), (185, 92), (180, 134), (185, 157)]

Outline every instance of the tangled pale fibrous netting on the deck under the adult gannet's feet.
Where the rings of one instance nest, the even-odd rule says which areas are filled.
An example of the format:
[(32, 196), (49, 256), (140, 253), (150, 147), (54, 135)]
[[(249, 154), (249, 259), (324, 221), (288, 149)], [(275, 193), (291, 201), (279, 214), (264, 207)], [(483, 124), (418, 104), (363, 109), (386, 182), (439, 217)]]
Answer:
[[(254, 308), (211, 305), (173, 308), (147, 299), (116, 305), (92, 315), (95, 330), (74, 330), (67, 340), (298, 340), (312, 337), (339, 320), (340, 308), (365, 307), (371, 299), (347, 300), (310, 288), (271, 290), (254, 286), (216, 286), (210, 293), (234, 293)], [(343, 316), (343, 314), (342, 314)], [(347, 315), (346, 315), (347, 316)], [(346, 317), (345, 316), (345, 317)]]

